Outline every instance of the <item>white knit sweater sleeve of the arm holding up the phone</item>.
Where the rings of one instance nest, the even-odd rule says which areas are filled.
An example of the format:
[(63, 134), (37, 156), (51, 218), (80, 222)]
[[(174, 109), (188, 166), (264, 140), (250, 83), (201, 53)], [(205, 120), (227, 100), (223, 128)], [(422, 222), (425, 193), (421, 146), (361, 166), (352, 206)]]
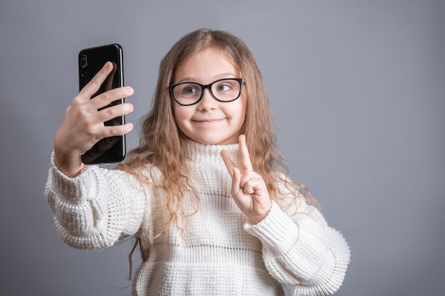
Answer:
[(81, 249), (108, 248), (134, 234), (141, 224), (146, 196), (132, 175), (90, 165), (67, 177), (51, 157), (45, 195), (60, 237)]

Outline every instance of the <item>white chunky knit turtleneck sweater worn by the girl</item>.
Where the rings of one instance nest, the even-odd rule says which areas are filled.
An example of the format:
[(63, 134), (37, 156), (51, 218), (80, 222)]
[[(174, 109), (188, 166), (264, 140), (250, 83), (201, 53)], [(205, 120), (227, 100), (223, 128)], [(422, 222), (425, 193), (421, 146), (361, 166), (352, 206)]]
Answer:
[[(238, 145), (189, 144), (191, 179), (200, 198), (185, 231), (168, 234), (159, 173), (141, 187), (134, 177), (97, 165), (69, 178), (53, 161), (45, 193), (63, 241), (75, 248), (108, 248), (141, 229), (149, 258), (139, 267), (134, 295), (331, 295), (341, 286), (349, 248), (338, 231), (304, 202), (288, 216), (276, 203), (252, 225), (230, 197), (230, 175), (220, 151), (238, 158)], [(147, 172), (148, 175), (148, 172)], [(149, 176), (149, 175), (148, 175)], [(197, 209), (191, 192), (183, 207)], [(309, 213), (309, 214), (308, 214)]]

